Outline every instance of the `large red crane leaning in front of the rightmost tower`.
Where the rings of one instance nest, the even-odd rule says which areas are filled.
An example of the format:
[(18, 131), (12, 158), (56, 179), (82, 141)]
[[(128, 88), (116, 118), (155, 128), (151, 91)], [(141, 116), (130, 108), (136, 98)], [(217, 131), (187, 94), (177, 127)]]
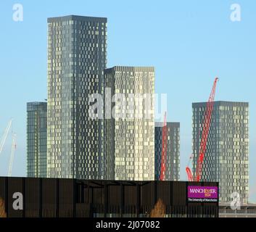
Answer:
[(215, 98), (215, 90), (216, 90), (217, 82), (218, 82), (218, 78), (215, 78), (213, 86), (212, 86), (212, 91), (211, 91), (209, 99), (207, 101), (207, 106), (206, 106), (206, 110), (205, 110), (205, 118), (204, 118), (204, 123), (203, 123), (203, 128), (202, 128), (202, 137), (201, 137), (200, 146), (199, 146), (199, 156), (197, 159), (197, 167), (196, 167), (196, 173), (195, 173), (194, 178), (193, 178), (190, 168), (186, 167), (186, 173), (188, 175), (189, 181), (200, 181), (201, 180), (202, 165), (204, 162), (207, 138), (208, 138), (208, 134), (209, 134), (209, 130), (210, 130), (210, 123), (211, 123), (211, 119), (212, 119), (212, 110), (214, 107), (214, 98)]

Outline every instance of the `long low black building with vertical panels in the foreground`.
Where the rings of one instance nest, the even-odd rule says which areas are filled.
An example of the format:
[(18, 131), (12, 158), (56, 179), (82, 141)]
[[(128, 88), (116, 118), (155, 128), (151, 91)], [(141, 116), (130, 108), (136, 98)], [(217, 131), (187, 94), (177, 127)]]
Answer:
[[(187, 201), (188, 186), (218, 183), (0, 178), (0, 197), (5, 201), (7, 216), (15, 218), (147, 216), (158, 199), (173, 217), (218, 217), (218, 202)], [(22, 195), (24, 210), (14, 209), (14, 194)]]

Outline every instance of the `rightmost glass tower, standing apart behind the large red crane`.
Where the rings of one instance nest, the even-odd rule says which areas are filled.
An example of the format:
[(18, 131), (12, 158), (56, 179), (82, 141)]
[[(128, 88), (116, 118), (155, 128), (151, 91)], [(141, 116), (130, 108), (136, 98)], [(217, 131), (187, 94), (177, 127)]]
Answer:
[[(207, 103), (193, 103), (193, 167), (196, 170), (199, 143)], [(220, 202), (231, 202), (232, 194), (248, 202), (249, 191), (249, 104), (215, 101), (202, 181), (218, 181)]]

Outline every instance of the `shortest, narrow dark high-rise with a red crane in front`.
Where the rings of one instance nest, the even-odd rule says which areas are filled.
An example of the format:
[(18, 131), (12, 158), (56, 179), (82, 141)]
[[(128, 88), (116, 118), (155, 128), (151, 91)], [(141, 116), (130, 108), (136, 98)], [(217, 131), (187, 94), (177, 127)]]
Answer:
[[(162, 125), (154, 126), (154, 175), (155, 180), (160, 181), (162, 158)], [(180, 179), (180, 123), (166, 123), (167, 127), (167, 151), (165, 160), (164, 181), (179, 181)]]

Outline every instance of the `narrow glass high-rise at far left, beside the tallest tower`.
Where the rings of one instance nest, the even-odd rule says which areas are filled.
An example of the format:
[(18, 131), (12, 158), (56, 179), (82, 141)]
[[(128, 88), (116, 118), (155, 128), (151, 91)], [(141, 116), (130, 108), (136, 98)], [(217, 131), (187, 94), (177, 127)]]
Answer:
[(27, 103), (27, 176), (46, 177), (47, 103)]

